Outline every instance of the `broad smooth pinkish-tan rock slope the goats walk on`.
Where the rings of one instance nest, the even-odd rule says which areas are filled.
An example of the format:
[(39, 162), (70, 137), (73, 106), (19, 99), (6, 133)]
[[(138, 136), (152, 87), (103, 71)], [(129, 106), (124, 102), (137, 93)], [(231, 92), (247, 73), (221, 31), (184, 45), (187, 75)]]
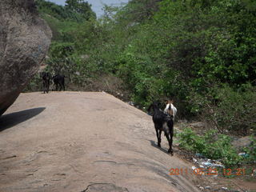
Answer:
[(198, 191), (166, 138), (155, 146), (151, 117), (109, 94), (21, 94), (0, 131), (2, 192)]

